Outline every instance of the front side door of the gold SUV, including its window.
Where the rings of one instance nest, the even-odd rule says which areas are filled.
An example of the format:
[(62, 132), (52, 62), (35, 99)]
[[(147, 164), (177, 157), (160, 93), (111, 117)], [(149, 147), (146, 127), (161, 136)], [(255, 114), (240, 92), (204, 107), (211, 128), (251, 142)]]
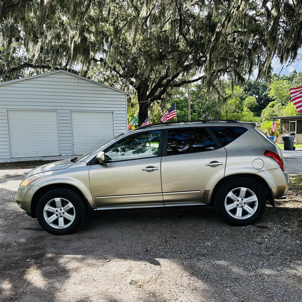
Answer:
[(162, 130), (133, 133), (104, 150), (89, 181), (97, 208), (163, 206), (160, 179)]

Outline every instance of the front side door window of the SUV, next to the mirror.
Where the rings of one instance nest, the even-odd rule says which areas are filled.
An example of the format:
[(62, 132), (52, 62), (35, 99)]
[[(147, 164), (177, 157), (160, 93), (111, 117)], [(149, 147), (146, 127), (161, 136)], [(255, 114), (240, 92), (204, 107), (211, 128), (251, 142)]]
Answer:
[(104, 151), (105, 161), (116, 162), (157, 156), (160, 135), (161, 131), (150, 131), (130, 135)]

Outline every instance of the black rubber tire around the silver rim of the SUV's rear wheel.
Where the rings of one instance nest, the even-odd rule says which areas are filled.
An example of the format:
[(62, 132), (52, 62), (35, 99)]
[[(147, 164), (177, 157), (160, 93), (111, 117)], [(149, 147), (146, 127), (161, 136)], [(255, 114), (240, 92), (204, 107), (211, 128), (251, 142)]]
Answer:
[[(228, 198), (226, 203), (227, 204), (232, 204), (234, 203), (236, 207), (234, 207), (232, 210), (230, 210), (230, 213), (226, 210), (225, 207), (225, 200), (227, 198), (227, 195), (229, 194), (229, 192), (231, 192), (232, 190), (235, 190), (236, 188), (247, 188), (248, 190), (246, 191), (246, 195), (245, 197), (248, 198), (250, 191), (252, 191), (257, 199), (258, 199), (258, 205), (257, 208), (254, 212), (254, 214), (249, 215), (248, 212), (245, 209), (242, 209), (242, 217), (247, 217), (245, 219), (238, 219), (235, 218), (233, 216), (231, 216), (231, 214), (236, 216), (236, 211), (237, 211), (237, 207), (241, 207), (241, 205), (239, 204), (240, 202), (245, 202), (246, 199), (243, 198), (243, 201), (241, 201), (241, 198), (238, 199), (238, 203), (237, 200), (233, 201), (231, 198)], [(239, 189), (240, 190), (240, 189)], [(237, 196), (236, 194), (239, 194), (239, 190), (238, 191), (234, 191), (234, 195)], [(238, 193), (237, 193), (238, 192)], [(237, 206), (237, 204), (239, 206)], [(246, 202), (245, 204), (242, 204), (242, 207), (246, 207), (246, 205), (250, 205), (250, 208), (252, 208), (254, 210), (255, 208), (255, 204), (256, 202), (251, 202), (248, 203)], [(215, 197), (215, 208), (217, 213), (220, 215), (220, 217), (226, 221), (227, 223), (229, 223), (230, 225), (233, 226), (245, 226), (245, 225), (250, 225), (255, 223), (256, 221), (258, 221), (264, 211), (265, 211), (265, 206), (266, 206), (266, 201), (265, 201), (265, 196), (263, 194), (262, 189), (259, 187), (259, 185), (257, 185), (255, 182), (249, 180), (249, 179), (235, 179), (233, 181), (229, 181), (227, 183), (225, 183), (224, 185), (221, 186), (221, 188), (219, 189), (219, 191), (216, 194)], [(240, 209), (238, 209), (240, 211)]]

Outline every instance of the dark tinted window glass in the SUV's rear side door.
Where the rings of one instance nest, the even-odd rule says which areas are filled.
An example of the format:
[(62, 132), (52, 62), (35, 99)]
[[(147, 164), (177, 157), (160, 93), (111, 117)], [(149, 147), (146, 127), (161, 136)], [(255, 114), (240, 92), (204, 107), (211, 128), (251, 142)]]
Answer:
[(216, 144), (204, 128), (168, 131), (168, 155), (202, 152), (215, 148), (217, 148)]

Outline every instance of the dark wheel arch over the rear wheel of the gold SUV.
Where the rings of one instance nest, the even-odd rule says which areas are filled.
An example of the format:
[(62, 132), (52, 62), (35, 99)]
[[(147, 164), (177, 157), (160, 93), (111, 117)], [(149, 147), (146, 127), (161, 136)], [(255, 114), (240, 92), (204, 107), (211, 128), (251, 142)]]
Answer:
[(230, 182), (235, 179), (248, 179), (255, 182), (257, 185), (259, 185), (260, 188), (262, 188), (265, 198), (266, 200), (268, 200), (269, 204), (275, 207), (273, 192), (269, 187), (268, 183), (261, 176), (251, 173), (232, 174), (220, 179), (214, 186), (214, 189), (212, 190), (212, 194), (210, 196), (210, 202), (209, 202), (211, 206), (214, 206), (214, 201), (218, 188), (220, 188), (222, 185), (226, 184), (227, 182)]

